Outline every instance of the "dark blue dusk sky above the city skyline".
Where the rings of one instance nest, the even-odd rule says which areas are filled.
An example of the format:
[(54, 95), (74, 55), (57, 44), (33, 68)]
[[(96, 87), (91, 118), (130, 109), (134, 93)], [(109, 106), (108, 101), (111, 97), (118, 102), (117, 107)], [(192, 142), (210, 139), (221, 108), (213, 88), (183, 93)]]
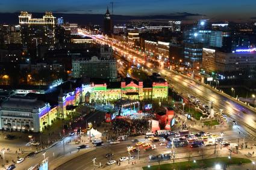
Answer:
[[(111, 1), (111, 0), (110, 0)], [(30, 12), (103, 14), (110, 1), (106, 0), (0, 0), (1, 13), (21, 10)], [(249, 20), (256, 18), (255, 0), (112, 0), (114, 14), (147, 16), (201, 16), (207, 19)]]

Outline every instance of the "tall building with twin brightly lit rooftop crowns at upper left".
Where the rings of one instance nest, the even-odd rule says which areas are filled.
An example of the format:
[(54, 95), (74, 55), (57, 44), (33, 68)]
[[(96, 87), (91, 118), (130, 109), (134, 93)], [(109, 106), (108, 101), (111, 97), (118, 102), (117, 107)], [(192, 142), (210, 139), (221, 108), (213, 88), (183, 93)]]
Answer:
[(55, 17), (46, 12), (43, 18), (33, 18), (27, 11), (20, 12), (19, 25), (23, 48), (32, 57), (39, 56), (40, 47), (53, 49), (55, 44)]

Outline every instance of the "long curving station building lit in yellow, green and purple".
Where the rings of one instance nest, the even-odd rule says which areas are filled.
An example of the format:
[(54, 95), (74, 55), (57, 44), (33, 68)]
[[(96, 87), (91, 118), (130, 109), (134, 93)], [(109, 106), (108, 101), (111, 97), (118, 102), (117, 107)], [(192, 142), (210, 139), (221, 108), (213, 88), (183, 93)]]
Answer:
[(43, 93), (34, 90), (23, 97), (11, 96), (0, 104), (0, 129), (41, 132), (58, 118), (72, 114), (80, 103), (167, 100), (168, 83), (151, 78), (145, 82), (128, 78), (108, 83), (75, 79), (51, 85)]

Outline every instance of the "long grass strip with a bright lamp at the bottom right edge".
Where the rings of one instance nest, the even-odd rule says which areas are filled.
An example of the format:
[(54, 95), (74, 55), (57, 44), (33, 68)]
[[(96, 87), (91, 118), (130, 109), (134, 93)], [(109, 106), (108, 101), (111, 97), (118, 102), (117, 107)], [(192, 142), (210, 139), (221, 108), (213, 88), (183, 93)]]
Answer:
[[(171, 160), (170, 160), (171, 161)], [(232, 157), (228, 159), (228, 157), (217, 157), (217, 158), (210, 158), (204, 160), (193, 160), (186, 161), (186, 162), (176, 162), (176, 163), (166, 163), (163, 165), (153, 165), (153, 166), (144, 166), (143, 170), (169, 170), (169, 169), (180, 169), (180, 170), (187, 170), (187, 169), (194, 169), (194, 168), (210, 168), (216, 165), (224, 166), (224, 165), (239, 165), (241, 163), (251, 163), (251, 160), (240, 158), (240, 157)]]

